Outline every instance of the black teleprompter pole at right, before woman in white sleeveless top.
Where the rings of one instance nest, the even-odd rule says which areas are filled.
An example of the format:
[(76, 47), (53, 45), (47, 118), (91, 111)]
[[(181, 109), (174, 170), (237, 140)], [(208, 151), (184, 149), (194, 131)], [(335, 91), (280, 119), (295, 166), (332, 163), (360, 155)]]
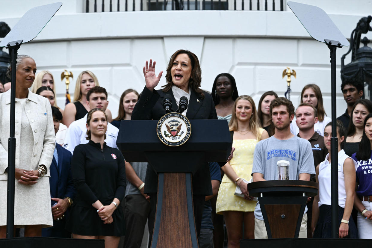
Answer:
[[(342, 47), (338, 41), (324, 39), (330, 49), (331, 58), (331, 102), (332, 102), (332, 138), (331, 138), (331, 230), (332, 238), (339, 237), (339, 178), (338, 178), (338, 140), (336, 125), (336, 48)], [(336, 45), (337, 44), (337, 45)]]

